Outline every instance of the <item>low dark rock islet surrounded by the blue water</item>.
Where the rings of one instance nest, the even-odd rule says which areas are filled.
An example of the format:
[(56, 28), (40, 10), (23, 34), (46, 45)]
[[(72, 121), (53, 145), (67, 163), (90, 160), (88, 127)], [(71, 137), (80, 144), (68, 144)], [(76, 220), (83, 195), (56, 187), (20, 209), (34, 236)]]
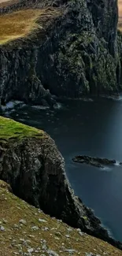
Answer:
[(106, 165), (116, 164), (116, 160), (109, 160), (107, 158), (92, 158), (86, 155), (78, 155), (75, 158), (72, 158), (72, 161), (76, 161), (81, 164), (94, 165), (99, 168), (105, 168)]

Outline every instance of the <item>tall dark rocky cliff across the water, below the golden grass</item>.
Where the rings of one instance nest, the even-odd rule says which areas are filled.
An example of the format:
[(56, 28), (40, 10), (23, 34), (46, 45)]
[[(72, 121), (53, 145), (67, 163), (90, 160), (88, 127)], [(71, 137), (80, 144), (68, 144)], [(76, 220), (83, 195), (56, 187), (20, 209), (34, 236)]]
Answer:
[[(23, 6), (28, 6), (28, 1), (1, 9), (1, 13)], [(3, 103), (16, 98), (42, 104), (45, 98), (54, 104), (50, 94), (79, 98), (120, 89), (117, 1), (31, 1), (31, 6), (56, 6), (59, 14), (50, 23), (48, 15), (46, 24), (39, 20), (44, 29), (31, 39), (0, 47)]]

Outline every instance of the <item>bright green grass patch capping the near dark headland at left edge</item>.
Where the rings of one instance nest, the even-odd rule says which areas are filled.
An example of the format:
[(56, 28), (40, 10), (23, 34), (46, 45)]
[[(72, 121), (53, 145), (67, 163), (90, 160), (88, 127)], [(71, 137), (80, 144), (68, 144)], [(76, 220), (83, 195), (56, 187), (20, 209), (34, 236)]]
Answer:
[(9, 118), (0, 117), (0, 141), (8, 139), (23, 139), (28, 137), (43, 137), (46, 133), (37, 128), (30, 127), (25, 124), (20, 124)]

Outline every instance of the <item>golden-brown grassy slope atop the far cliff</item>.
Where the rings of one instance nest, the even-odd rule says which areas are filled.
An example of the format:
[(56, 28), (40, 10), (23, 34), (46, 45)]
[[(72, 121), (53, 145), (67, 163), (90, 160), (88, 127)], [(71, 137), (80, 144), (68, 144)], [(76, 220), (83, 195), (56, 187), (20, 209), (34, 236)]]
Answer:
[(0, 16), (0, 45), (30, 35), (37, 28), (43, 29), (42, 25), (37, 23), (39, 17), (50, 20), (57, 14), (55, 9), (22, 9)]

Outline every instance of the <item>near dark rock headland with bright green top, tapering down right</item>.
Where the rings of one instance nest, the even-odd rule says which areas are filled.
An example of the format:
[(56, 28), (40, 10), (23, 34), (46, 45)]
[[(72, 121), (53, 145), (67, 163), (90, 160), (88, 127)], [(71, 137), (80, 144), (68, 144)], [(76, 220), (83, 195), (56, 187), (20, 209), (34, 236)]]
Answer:
[(0, 179), (26, 202), (122, 249), (92, 210), (74, 195), (65, 161), (45, 132), (0, 117)]

